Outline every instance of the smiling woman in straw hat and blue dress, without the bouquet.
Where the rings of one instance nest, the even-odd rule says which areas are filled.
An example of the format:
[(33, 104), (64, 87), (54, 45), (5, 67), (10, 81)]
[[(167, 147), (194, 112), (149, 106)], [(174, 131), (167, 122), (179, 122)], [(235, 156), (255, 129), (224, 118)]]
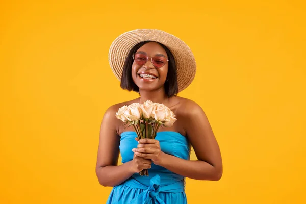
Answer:
[[(113, 186), (107, 203), (187, 203), (185, 177), (218, 181), (222, 159), (209, 121), (194, 101), (176, 96), (195, 75), (190, 48), (179, 38), (155, 29), (120, 35), (109, 53), (120, 86), (139, 98), (111, 106), (101, 123), (96, 174), (103, 186)], [(140, 139), (115, 115), (132, 103), (151, 100), (176, 115), (171, 127), (160, 127), (155, 139)], [(196, 161), (190, 161), (190, 148)], [(117, 166), (119, 150), (122, 165)], [(149, 176), (138, 173), (148, 169)]]

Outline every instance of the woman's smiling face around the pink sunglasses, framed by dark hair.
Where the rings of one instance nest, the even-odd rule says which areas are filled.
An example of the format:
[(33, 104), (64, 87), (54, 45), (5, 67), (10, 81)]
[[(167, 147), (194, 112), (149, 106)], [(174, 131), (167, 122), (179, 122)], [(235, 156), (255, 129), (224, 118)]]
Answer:
[[(135, 61), (132, 64), (132, 78), (140, 90), (152, 91), (162, 89), (167, 78), (168, 63), (160, 68), (156, 68), (151, 58), (165, 56), (168, 58), (165, 49), (157, 42), (148, 42), (140, 47), (136, 53), (147, 55), (149, 60), (144, 65), (138, 65)], [(157, 62), (158, 63), (158, 62)], [(154, 77), (146, 77), (144, 74)]]

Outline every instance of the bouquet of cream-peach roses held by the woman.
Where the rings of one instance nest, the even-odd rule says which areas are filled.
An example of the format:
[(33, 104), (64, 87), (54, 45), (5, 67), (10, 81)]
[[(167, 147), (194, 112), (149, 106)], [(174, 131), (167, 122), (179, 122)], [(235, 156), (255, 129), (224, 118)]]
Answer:
[[(164, 104), (153, 103), (150, 100), (143, 104), (133, 103), (129, 106), (122, 106), (116, 113), (116, 118), (133, 126), (138, 139), (155, 139), (157, 130), (161, 125), (172, 126), (176, 118), (173, 112)], [(149, 175), (144, 169), (139, 175)]]

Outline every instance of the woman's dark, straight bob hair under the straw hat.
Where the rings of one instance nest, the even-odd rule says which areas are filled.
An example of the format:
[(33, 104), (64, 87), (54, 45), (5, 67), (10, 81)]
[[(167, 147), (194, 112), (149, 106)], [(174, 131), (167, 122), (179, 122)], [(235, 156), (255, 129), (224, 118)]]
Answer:
[[(120, 87), (124, 90), (128, 91), (135, 91), (139, 93), (138, 86), (134, 83), (132, 78), (132, 64), (134, 62), (132, 55), (137, 52), (137, 50), (142, 47), (144, 44), (152, 42), (152, 41), (144, 41), (136, 44), (127, 54), (127, 58), (125, 60), (122, 76), (121, 76), (121, 83)], [(157, 42), (159, 43), (159, 42)], [(167, 78), (164, 84), (165, 93), (167, 94), (168, 98), (172, 97), (179, 93), (179, 86), (177, 85), (177, 73), (176, 73), (176, 65), (174, 56), (170, 52), (170, 50), (163, 44), (159, 43), (166, 51), (168, 56), (168, 73)]]

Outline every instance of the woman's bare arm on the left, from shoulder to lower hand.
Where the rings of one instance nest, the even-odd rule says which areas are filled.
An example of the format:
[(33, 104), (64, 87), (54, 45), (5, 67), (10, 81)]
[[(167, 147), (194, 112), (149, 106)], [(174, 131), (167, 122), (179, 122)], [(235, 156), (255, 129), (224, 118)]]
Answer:
[(104, 114), (100, 127), (99, 146), (96, 163), (96, 175), (102, 186), (116, 186), (129, 179), (134, 173), (150, 168), (151, 161), (134, 155), (132, 161), (117, 166), (120, 136), (114, 124), (118, 124), (116, 106), (110, 107)]

